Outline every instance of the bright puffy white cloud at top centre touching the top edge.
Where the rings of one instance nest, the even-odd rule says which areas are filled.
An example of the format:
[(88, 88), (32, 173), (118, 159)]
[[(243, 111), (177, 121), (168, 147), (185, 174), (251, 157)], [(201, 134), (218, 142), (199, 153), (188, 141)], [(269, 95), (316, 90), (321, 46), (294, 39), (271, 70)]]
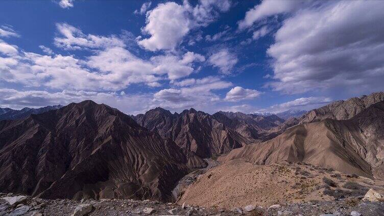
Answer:
[(195, 7), (187, 1), (182, 5), (159, 4), (147, 12), (146, 26), (142, 29), (151, 36), (139, 39), (138, 44), (151, 51), (174, 50), (190, 30), (206, 26), (218, 17), (218, 11), (228, 11), (230, 6), (229, 1), (200, 1)]

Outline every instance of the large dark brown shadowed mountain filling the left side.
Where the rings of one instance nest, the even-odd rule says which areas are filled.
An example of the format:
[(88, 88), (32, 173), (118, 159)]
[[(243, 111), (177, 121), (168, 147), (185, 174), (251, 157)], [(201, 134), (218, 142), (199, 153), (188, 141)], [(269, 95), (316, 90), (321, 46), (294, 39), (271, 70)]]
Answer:
[(3, 192), (166, 200), (187, 165), (201, 161), (188, 159), (172, 140), (164, 141), (129, 116), (92, 101), (0, 121)]

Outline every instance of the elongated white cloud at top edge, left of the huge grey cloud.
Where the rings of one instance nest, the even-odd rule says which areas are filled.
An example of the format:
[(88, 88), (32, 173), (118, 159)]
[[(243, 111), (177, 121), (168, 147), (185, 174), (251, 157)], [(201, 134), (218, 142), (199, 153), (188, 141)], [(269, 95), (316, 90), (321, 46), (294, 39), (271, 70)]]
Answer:
[(308, 3), (310, 1), (263, 0), (260, 5), (256, 5), (246, 12), (245, 18), (238, 22), (238, 28), (244, 30), (263, 18), (296, 10), (303, 4)]

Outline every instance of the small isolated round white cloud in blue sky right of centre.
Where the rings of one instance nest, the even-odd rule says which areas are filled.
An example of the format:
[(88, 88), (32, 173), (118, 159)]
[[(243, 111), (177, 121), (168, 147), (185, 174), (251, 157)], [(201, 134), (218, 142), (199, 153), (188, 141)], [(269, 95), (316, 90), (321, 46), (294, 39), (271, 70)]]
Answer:
[(233, 67), (237, 64), (238, 59), (236, 55), (230, 53), (228, 49), (221, 49), (218, 52), (213, 53), (208, 62), (220, 69), (220, 72), (223, 74), (231, 74)]

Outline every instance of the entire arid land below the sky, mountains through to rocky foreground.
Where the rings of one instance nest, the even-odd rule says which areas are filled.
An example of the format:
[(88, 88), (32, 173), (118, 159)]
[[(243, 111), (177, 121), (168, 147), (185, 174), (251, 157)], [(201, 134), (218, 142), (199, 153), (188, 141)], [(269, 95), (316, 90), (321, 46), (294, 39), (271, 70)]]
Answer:
[(383, 95), (287, 120), (88, 100), (0, 121), (0, 215), (380, 215)]

